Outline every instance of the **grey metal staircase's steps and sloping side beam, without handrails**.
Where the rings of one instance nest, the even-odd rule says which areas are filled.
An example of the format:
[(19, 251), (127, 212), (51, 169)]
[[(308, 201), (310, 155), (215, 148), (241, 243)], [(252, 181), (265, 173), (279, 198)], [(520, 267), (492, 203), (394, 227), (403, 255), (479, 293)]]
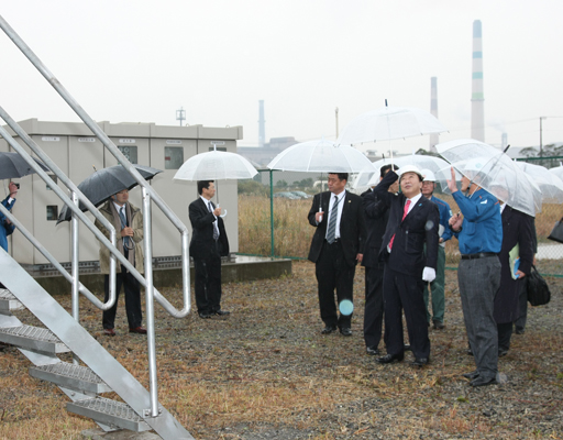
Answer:
[[(0, 341), (18, 346), (33, 363), (30, 375), (57, 385), (71, 399), (68, 411), (107, 431), (154, 429), (163, 439), (194, 439), (162, 405), (152, 417), (150, 393), (2, 249), (0, 278), (9, 288), (0, 290)], [(46, 328), (23, 324), (12, 314), (23, 307)], [(57, 356), (68, 352), (89, 366)], [(109, 392), (124, 403), (100, 396)]]

